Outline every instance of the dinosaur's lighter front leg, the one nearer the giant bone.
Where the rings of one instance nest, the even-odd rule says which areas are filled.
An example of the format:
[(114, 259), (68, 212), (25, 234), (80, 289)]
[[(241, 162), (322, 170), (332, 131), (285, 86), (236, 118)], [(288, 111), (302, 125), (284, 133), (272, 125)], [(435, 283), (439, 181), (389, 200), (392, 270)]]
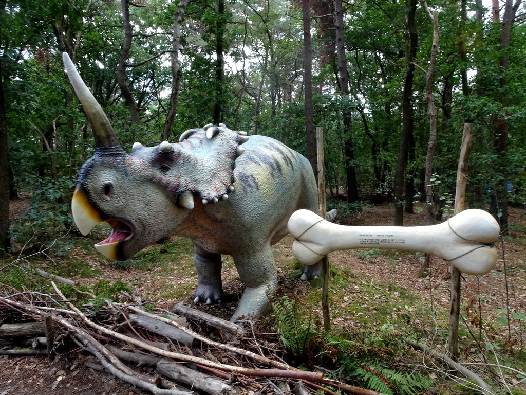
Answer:
[(230, 321), (237, 321), (243, 316), (251, 318), (252, 314), (265, 314), (270, 307), (268, 296), (278, 287), (276, 262), (270, 245), (236, 255), (234, 263), (245, 284), (245, 291)]

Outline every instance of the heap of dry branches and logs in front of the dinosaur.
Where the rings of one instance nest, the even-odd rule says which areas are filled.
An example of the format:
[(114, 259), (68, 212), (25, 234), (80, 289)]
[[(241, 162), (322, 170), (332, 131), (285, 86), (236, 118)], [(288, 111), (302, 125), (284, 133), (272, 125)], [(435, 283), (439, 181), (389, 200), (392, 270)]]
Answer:
[[(42, 353), (47, 353), (50, 360), (57, 343), (53, 339), (61, 333), (92, 353), (100, 369), (153, 394), (187, 395), (199, 391), (234, 395), (263, 390), (282, 394), (292, 387), (301, 395), (320, 389), (333, 394), (331, 388), (349, 394), (378, 394), (325, 378), (321, 372), (294, 368), (238, 325), (182, 305), (176, 305), (176, 314), (213, 325), (228, 341), (218, 342), (196, 333), (171, 313), (146, 312), (140, 302), (107, 301), (108, 319), (104, 324), (95, 322), (52, 284), (55, 294), (21, 292), (0, 297), (0, 307), (36, 321), (32, 325), (38, 342), (46, 344)], [(94, 295), (90, 297), (95, 299)], [(0, 326), (0, 338), (14, 337), (8, 329), (8, 324)], [(22, 333), (21, 329), (14, 330)], [(42, 333), (46, 336), (38, 337)]]

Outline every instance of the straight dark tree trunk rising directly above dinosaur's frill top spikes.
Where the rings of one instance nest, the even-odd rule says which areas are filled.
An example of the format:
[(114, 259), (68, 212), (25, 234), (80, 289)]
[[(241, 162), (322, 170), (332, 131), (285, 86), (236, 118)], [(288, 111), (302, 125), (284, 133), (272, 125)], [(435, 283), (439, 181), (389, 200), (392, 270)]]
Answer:
[(225, 1), (218, 0), (217, 2), (217, 26), (216, 26), (216, 101), (214, 103), (214, 124), (218, 125), (222, 122), (225, 97), (225, 57), (224, 50), (224, 35), (225, 35)]

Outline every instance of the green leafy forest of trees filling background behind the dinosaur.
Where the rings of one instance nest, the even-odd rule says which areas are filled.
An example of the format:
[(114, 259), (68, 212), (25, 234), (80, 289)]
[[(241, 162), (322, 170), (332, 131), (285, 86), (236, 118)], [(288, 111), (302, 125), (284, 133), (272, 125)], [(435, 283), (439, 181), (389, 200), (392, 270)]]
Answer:
[(47, 202), (25, 214), (34, 228), (71, 224), (68, 202), (93, 138), (62, 52), (125, 150), (221, 122), (314, 163), (313, 129), (322, 126), (331, 196), (394, 197), (406, 213), (429, 201), (427, 184), (437, 201), (454, 195), (472, 123), (467, 202), (505, 231), (508, 204), (525, 193), (523, 13), (518, 0), (2, 0), (0, 248), (28, 232), (9, 230), (17, 194)]

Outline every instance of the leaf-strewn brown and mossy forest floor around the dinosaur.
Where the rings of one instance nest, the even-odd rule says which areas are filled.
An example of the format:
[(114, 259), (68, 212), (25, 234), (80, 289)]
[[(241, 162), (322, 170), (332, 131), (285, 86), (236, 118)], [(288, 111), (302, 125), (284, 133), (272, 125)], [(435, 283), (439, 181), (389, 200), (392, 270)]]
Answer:
[[(12, 205), (13, 216), (24, 209), (23, 201)], [(404, 226), (424, 225), (425, 214), (406, 214)], [(366, 209), (365, 212), (352, 214), (345, 219), (347, 225), (392, 225), (393, 205), (383, 203)], [(523, 350), (524, 322), (520, 313), (526, 312), (526, 216), (524, 209), (509, 208), (510, 234), (501, 238), (497, 244), (499, 261), (494, 270), (483, 276), (463, 276), (462, 303), (464, 317), (473, 320), (474, 316), (483, 317), (486, 324), (484, 335), (486, 342), (495, 347), (509, 347)], [(89, 241), (89, 240), (88, 240)], [(290, 275), (294, 270), (294, 256), (290, 251), (292, 239), (287, 236), (275, 247), (278, 265), (279, 290), (281, 294), (301, 300), (311, 292), (312, 285), (301, 282), (298, 276)], [(134, 292), (141, 294), (143, 300), (155, 300), (156, 307), (170, 309), (174, 303), (183, 302), (191, 307), (207, 311), (218, 317), (228, 319), (234, 311), (242, 284), (231, 260), (224, 262), (224, 289), (229, 301), (221, 305), (195, 304), (191, 294), (195, 289), (196, 275), (191, 269), (192, 251), (186, 239), (175, 240), (171, 248), (155, 246), (160, 254), (157, 260), (147, 265), (134, 264), (127, 268), (111, 264), (99, 255), (88, 251), (84, 246), (75, 246), (68, 250), (66, 258), (56, 257), (48, 262), (49, 268), (58, 268), (73, 259), (83, 261), (90, 267), (90, 276), (72, 271), (72, 278), (82, 283), (96, 284), (101, 279), (122, 280), (130, 284)], [(415, 253), (359, 250), (339, 251), (330, 254), (333, 272), (343, 273), (350, 285), (338, 290), (331, 288), (331, 317), (336, 327), (359, 328), (360, 325), (375, 325), (381, 305), (389, 307), (390, 319), (407, 317), (411, 325), (423, 327), (429, 333), (430, 341), (440, 342), (443, 337), (437, 329), (429, 328), (429, 318), (421, 318), (403, 301), (400, 294), (411, 294), (417, 304), (427, 311), (449, 311), (448, 263), (432, 258), (432, 272), (428, 278), (418, 278), (420, 255)], [(67, 260), (64, 260), (67, 259)], [(138, 261), (140, 263), (139, 256)], [(184, 262), (184, 263), (182, 263)], [(42, 265), (42, 262), (39, 264)], [(49, 270), (51, 271), (51, 270)], [(371, 293), (370, 290), (380, 292)], [(312, 298), (305, 303), (311, 303)], [(482, 300), (482, 302), (481, 302)], [(396, 306), (398, 307), (392, 307)], [(509, 325), (493, 324), (502, 319), (506, 310), (510, 314)], [(310, 309), (321, 314), (319, 304), (313, 303)], [(476, 312), (476, 313), (474, 313)], [(518, 317), (518, 319), (514, 319)], [(429, 315), (429, 314), (428, 314)], [(365, 320), (367, 316), (368, 320)], [(438, 315), (437, 315), (438, 316)], [(384, 317), (385, 318), (385, 317)], [(379, 321), (381, 320), (378, 319)], [(0, 321), (1, 322), (1, 321)], [(426, 329), (426, 327), (428, 327)], [(440, 327), (437, 325), (436, 328)], [(443, 327), (443, 325), (442, 325)], [(498, 344), (498, 345), (497, 345)], [(467, 353), (472, 348), (466, 350)], [(441, 350), (444, 352), (445, 348)], [(476, 358), (474, 360), (477, 360)], [(95, 371), (85, 362), (96, 362), (88, 354), (71, 352), (56, 357), (54, 363), (48, 363), (45, 357), (0, 357), (0, 395), (132, 395), (142, 391), (114, 378), (108, 373)], [(518, 368), (519, 370), (520, 367)], [(462, 392), (454, 392), (462, 393)]]

